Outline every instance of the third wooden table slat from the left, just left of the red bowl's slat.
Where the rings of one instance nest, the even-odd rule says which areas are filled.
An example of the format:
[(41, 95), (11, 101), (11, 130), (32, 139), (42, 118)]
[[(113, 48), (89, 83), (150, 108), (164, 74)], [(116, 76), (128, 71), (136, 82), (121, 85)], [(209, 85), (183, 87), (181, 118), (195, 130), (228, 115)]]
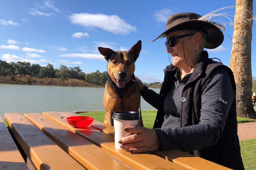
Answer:
[(87, 169), (136, 169), (42, 114), (29, 113), (24, 116)]

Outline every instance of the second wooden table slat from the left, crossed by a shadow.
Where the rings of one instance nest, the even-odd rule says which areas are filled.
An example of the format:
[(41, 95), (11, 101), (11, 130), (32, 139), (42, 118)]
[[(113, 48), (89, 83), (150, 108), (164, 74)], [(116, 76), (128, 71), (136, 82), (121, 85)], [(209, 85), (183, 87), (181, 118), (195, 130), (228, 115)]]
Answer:
[(85, 169), (22, 114), (5, 114), (5, 120), (36, 169)]

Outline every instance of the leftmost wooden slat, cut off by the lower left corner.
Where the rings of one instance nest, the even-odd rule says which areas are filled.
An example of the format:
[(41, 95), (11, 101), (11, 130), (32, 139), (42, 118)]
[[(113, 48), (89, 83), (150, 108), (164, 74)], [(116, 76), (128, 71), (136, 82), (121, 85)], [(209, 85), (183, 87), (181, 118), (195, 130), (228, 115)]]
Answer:
[(0, 116), (0, 169), (28, 170), (26, 162)]

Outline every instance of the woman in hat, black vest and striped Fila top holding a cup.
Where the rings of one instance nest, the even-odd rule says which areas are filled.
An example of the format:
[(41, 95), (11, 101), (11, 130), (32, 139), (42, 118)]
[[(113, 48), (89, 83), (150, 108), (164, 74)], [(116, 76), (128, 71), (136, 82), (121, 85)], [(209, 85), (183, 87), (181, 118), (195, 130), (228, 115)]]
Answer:
[(158, 109), (154, 127), (126, 127), (126, 132), (135, 134), (120, 139), (120, 147), (130, 153), (179, 149), (231, 169), (244, 169), (233, 73), (203, 51), (217, 48), (224, 36), (200, 18), (195, 13), (168, 17), (165, 32), (156, 38), (166, 37), (166, 52), (173, 61), (164, 70), (160, 94), (138, 81), (141, 96)]

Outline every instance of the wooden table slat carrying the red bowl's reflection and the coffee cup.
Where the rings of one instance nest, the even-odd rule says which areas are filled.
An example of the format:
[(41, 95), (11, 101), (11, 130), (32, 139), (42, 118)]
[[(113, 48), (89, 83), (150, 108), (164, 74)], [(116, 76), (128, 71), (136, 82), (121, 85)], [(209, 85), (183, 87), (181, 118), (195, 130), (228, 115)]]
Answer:
[[(111, 155), (117, 156), (121, 160), (132, 164), (138, 169), (185, 169), (171, 161), (167, 161), (166, 159), (149, 152), (144, 154), (131, 154), (126, 150), (118, 150), (115, 148), (113, 136), (102, 133), (101, 131), (89, 126), (84, 129), (74, 128), (65, 120), (67, 116), (58, 112), (43, 112), (42, 115), (61, 124), (71, 132), (84, 137), (95, 145), (100, 146)], [(64, 119), (61, 117), (64, 117)]]

